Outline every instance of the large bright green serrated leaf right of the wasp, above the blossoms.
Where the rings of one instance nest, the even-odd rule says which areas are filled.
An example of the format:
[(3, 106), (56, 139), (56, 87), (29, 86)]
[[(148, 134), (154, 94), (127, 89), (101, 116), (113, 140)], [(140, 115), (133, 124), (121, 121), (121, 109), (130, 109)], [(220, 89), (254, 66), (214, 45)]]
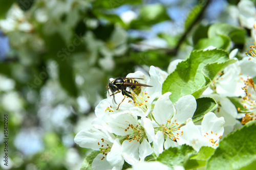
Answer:
[(197, 99), (210, 85), (210, 79), (232, 62), (234, 61), (230, 61), (228, 53), (223, 50), (193, 51), (190, 57), (180, 62), (175, 71), (164, 81), (162, 93), (172, 92), (170, 100), (173, 103), (187, 94), (192, 94)]

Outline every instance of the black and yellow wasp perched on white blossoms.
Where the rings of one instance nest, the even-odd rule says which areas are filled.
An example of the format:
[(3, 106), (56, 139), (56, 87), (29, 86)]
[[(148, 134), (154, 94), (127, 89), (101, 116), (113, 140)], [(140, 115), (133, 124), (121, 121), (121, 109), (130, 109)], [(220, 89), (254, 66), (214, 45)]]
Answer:
[[(110, 82), (110, 84), (108, 86), (106, 86), (106, 87), (109, 87), (108, 90), (110, 90), (112, 92), (112, 94), (110, 96), (113, 95), (114, 101), (115, 101), (115, 94), (117, 94), (119, 92), (122, 92), (122, 94), (124, 95), (122, 102), (124, 101), (125, 96), (129, 96), (130, 98), (133, 99), (132, 95), (134, 96), (134, 94), (130, 91), (127, 91), (126, 90), (127, 87), (129, 87), (136, 95), (139, 95), (139, 93), (141, 91), (141, 87), (153, 87), (150, 85), (138, 83), (134, 79), (144, 80), (142, 78), (117, 78), (117, 79), (113, 80), (112, 82)], [(116, 101), (115, 101), (115, 103), (116, 103)], [(116, 110), (118, 110), (120, 104), (118, 105)]]

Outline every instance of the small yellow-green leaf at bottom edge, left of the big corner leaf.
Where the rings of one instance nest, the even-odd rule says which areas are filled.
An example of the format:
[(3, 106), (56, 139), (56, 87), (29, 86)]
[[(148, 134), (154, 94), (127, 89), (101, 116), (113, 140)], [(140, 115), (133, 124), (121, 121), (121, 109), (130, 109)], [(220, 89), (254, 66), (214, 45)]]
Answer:
[(215, 149), (211, 147), (201, 147), (200, 151), (191, 156), (187, 163), (184, 165), (185, 169), (196, 169), (205, 166), (206, 161), (214, 154)]

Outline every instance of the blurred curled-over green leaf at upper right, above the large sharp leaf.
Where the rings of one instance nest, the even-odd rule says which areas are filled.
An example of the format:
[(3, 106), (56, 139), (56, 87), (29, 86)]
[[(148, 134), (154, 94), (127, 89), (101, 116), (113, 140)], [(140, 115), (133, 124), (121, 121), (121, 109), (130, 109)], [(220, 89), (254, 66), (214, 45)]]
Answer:
[(225, 35), (230, 37), (233, 42), (243, 44), (245, 42), (245, 33), (246, 31), (240, 27), (231, 26), (227, 23), (217, 23), (209, 28), (208, 37)]

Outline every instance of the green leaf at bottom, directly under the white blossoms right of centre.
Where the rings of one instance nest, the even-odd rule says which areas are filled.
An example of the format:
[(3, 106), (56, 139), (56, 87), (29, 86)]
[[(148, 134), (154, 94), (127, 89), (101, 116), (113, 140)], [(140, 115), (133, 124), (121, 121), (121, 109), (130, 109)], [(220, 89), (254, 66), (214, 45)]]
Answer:
[(189, 145), (183, 144), (177, 148), (169, 148), (163, 151), (157, 157), (157, 161), (160, 161), (169, 167), (173, 167), (175, 165), (184, 165), (187, 160), (195, 154), (197, 154), (197, 151), (195, 151)]

